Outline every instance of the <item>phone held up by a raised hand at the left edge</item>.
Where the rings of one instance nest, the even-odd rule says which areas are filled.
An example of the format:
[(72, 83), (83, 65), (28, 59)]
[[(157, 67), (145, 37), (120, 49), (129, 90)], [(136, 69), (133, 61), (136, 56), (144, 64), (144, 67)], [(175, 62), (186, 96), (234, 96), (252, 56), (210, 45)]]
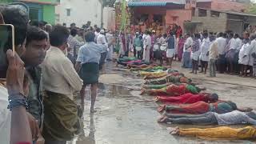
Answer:
[(11, 25), (0, 25), (0, 74), (7, 67), (6, 51), (13, 49), (14, 28)]

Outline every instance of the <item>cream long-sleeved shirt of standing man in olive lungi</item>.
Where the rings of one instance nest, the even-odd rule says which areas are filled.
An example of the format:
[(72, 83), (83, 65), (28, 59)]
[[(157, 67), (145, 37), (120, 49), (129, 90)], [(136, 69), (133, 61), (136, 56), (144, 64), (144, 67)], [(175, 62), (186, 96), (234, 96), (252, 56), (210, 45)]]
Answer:
[(73, 63), (62, 50), (51, 46), (42, 62), (43, 89), (65, 94), (73, 100), (73, 93), (82, 89), (82, 79), (74, 70)]

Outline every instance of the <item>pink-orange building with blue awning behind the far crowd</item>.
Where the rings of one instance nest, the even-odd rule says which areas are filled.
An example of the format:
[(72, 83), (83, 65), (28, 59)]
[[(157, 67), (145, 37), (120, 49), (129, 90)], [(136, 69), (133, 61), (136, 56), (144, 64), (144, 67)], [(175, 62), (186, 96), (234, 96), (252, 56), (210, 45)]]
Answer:
[(131, 0), (128, 6), (132, 12), (132, 26), (142, 31), (160, 27), (161, 32), (166, 32), (174, 24), (183, 29), (184, 22), (194, 20), (198, 8), (239, 13), (246, 9), (243, 4), (230, 0)]

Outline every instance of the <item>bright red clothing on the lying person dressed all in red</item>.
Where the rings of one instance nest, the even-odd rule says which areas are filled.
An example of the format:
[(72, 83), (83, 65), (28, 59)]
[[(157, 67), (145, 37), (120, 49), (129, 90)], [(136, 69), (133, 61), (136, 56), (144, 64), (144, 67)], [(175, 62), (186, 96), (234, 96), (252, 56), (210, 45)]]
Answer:
[(178, 97), (168, 97), (168, 96), (158, 96), (159, 102), (163, 102), (165, 104), (189, 104), (195, 103), (199, 101), (208, 102), (208, 98), (205, 94), (183, 94)]

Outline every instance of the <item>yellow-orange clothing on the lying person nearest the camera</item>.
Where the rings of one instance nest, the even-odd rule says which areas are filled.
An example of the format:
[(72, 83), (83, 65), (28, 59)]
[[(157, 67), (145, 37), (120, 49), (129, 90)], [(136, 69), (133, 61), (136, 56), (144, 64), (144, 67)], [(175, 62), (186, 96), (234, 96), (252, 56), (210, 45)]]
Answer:
[(251, 139), (256, 138), (256, 129), (247, 126), (239, 129), (227, 126), (208, 128), (208, 129), (180, 129), (181, 136), (194, 136), (203, 139)]

